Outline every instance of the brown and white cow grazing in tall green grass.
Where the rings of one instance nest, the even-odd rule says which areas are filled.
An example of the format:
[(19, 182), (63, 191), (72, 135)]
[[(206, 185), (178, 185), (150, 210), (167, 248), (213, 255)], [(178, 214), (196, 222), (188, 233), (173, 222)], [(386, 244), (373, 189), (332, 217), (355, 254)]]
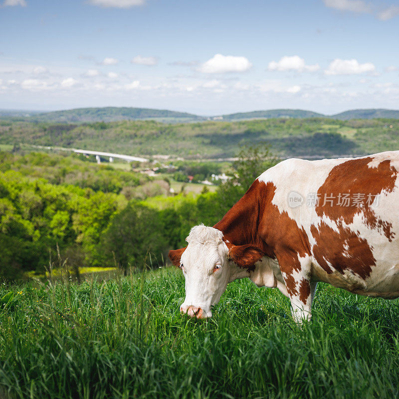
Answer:
[(362, 158), (289, 159), (260, 175), (213, 227), (191, 229), (169, 256), (186, 278), (181, 311), (211, 317), (227, 284), (277, 287), (297, 322), (318, 281), (399, 296), (399, 151)]

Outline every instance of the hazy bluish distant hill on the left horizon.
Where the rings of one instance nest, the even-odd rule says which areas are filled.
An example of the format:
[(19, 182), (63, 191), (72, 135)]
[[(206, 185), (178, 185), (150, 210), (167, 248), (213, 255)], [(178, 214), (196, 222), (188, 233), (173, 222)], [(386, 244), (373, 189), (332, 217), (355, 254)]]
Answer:
[(104, 108), (76, 108), (65, 111), (45, 112), (29, 117), (37, 122), (114, 122), (122, 120), (159, 119), (167, 122), (199, 121), (198, 115), (186, 112), (175, 112), (163, 109), (104, 107)]

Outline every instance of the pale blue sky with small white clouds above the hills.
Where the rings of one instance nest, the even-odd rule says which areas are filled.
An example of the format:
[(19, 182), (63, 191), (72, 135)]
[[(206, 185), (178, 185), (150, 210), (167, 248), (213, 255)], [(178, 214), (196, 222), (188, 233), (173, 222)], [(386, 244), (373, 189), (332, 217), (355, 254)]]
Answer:
[(399, 109), (399, 0), (0, 0), (0, 108)]

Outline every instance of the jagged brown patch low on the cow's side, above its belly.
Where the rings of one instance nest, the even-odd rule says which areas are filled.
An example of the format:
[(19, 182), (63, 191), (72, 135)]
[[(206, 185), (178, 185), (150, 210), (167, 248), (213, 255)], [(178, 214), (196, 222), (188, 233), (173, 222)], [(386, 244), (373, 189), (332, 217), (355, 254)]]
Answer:
[[(341, 274), (345, 270), (356, 273), (363, 279), (370, 276), (372, 266), (375, 266), (372, 247), (367, 240), (348, 227), (338, 226), (339, 231), (324, 222), (310, 231), (316, 240), (313, 246), (313, 256), (319, 265), (327, 272), (332, 273), (330, 265)], [(330, 263), (330, 265), (329, 265)]]

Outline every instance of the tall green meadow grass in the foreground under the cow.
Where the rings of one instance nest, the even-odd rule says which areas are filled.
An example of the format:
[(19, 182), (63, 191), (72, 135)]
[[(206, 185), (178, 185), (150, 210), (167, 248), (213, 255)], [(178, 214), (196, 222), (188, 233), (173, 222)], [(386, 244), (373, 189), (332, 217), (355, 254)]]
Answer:
[[(210, 320), (179, 314), (162, 269), (0, 288), (0, 384), (10, 398), (395, 398), (398, 301), (320, 284), (299, 328), (288, 300), (231, 283)], [(1, 395), (1, 394), (0, 394)]]

